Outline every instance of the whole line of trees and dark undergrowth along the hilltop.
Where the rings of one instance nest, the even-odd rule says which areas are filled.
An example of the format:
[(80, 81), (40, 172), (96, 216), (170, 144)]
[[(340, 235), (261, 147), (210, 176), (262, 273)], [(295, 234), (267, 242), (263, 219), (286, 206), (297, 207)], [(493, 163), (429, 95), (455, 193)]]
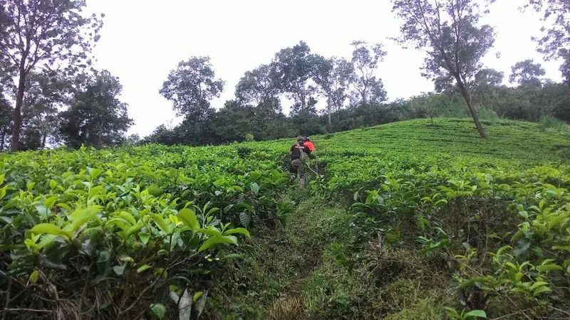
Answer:
[[(541, 65), (525, 60), (512, 67), (509, 81), (515, 86), (510, 87), (502, 85), (502, 73), (481, 62), (494, 45), (494, 29), (480, 23), (492, 2), (392, 0), (403, 23), (400, 36), (391, 40), (425, 52), (422, 75), (433, 80), (434, 92), (386, 102), (378, 75), (388, 53), (381, 43), (353, 41), (352, 56), (345, 59), (323, 57), (300, 41), (244, 73), (234, 99), (215, 110), (211, 102), (226, 82), (216, 78), (209, 57), (192, 57), (178, 63), (159, 90), (182, 123), (161, 125), (140, 139), (125, 137), (133, 120), (118, 99), (118, 78), (92, 68), (103, 14), (83, 15), (84, 0), (0, 0), (0, 149), (222, 144), (442, 114), (472, 117), (485, 137), (483, 111), (528, 121), (545, 116), (569, 121), (567, 1), (529, 0), (522, 8), (543, 14), (546, 28), (535, 39), (537, 48), (546, 59), (562, 61), (566, 83), (544, 79)], [(282, 97), (292, 104), (282, 105)], [(324, 110), (316, 110), (319, 101)]]

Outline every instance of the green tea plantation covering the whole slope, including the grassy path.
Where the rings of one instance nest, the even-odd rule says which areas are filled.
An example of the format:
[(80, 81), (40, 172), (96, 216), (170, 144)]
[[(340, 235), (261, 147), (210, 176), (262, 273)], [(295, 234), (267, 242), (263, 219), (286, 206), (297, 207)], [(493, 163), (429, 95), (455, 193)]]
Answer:
[[(3, 319), (567, 319), (570, 131), (4, 154)], [(180, 318), (179, 318), (180, 317)]]

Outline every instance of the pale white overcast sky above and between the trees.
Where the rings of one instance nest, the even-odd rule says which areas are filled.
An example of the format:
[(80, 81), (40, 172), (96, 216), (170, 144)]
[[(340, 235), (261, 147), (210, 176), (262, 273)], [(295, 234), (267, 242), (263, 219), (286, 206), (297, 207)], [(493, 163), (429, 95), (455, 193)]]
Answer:
[[(388, 0), (88, 0), (87, 4), (87, 11), (105, 14), (93, 50), (95, 67), (120, 78), (120, 100), (128, 103), (135, 121), (128, 133), (140, 137), (160, 124), (180, 121), (172, 103), (158, 91), (177, 63), (195, 55), (209, 55), (216, 77), (226, 81), (222, 95), (212, 101), (217, 109), (234, 98), (235, 85), (246, 71), (269, 63), (276, 52), (301, 40), (313, 53), (348, 59), (353, 40), (383, 43), (388, 55), (377, 76), (388, 100), (433, 90), (433, 83), (420, 75), (424, 53), (388, 39), (399, 35), (401, 24)], [(504, 72), (507, 84), (511, 66), (531, 58), (543, 64), (547, 78), (561, 80), (559, 63), (544, 62), (531, 40), (540, 35), (539, 16), (521, 13), (520, 4), (497, 1), (484, 18), (497, 32), (484, 65)], [(284, 112), (288, 109), (285, 106)]]

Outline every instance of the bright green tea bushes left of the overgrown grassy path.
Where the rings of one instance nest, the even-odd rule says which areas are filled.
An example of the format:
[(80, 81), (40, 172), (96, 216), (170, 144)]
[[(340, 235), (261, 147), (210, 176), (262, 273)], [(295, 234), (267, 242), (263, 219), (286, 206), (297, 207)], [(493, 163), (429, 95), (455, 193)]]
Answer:
[(232, 246), (249, 237), (245, 228), (289, 212), (276, 198), (286, 174), (263, 159), (155, 145), (4, 156), (5, 308), (103, 319), (177, 310), (170, 296), (207, 292), (218, 266), (239, 257)]

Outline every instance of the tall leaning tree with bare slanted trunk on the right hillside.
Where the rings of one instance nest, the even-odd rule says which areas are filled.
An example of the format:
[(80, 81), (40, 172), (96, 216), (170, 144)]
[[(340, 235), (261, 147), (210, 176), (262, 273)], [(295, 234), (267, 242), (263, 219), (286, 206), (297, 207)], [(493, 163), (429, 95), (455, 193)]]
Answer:
[(491, 26), (477, 26), (482, 14), (471, 0), (392, 0), (393, 11), (403, 18), (399, 43), (412, 43), (427, 55), (426, 78), (451, 76), (467, 103), (481, 137), (486, 137), (471, 100), (472, 81), (482, 69), (481, 58), (492, 48)]

